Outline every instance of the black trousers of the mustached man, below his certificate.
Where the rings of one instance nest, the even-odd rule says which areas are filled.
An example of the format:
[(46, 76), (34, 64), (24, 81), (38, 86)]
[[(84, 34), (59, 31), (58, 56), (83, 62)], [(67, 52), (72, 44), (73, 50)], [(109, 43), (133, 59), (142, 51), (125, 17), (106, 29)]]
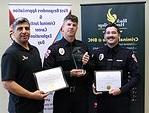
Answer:
[(98, 96), (97, 113), (129, 113), (129, 97), (126, 95), (112, 96), (109, 94)]

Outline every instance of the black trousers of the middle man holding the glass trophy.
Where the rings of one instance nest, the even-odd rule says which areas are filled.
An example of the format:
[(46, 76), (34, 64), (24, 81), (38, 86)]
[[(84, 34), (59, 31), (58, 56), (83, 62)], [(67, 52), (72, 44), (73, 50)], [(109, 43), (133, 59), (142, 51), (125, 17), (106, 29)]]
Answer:
[(56, 91), (53, 99), (53, 113), (87, 113), (88, 91), (84, 88)]

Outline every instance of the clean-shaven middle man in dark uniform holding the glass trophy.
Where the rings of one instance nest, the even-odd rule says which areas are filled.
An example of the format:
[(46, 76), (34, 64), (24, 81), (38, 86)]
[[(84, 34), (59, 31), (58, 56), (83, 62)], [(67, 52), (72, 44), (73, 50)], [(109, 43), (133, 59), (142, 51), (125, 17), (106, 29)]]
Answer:
[(75, 39), (77, 28), (78, 18), (66, 16), (61, 29), (63, 38), (51, 45), (45, 55), (44, 69), (61, 66), (69, 84), (69, 88), (55, 91), (53, 113), (87, 113), (88, 110), (88, 75), (81, 69), (82, 60), (78, 63), (75, 57), (81, 57), (80, 53), (89, 55), (86, 45)]

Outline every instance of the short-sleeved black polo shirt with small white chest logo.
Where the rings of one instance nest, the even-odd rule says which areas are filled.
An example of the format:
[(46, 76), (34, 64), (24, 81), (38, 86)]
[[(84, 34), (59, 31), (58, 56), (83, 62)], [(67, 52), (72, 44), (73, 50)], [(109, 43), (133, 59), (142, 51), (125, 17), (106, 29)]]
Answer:
[[(33, 73), (42, 69), (39, 52), (36, 47), (29, 45), (26, 50), (16, 42), (2, 56), (2, 81), (13, 80), (25, 89), (37, 90)], [(43, 109), (43, 101), (27, 99), (10, 93), (9, 112), (36, 113)]]

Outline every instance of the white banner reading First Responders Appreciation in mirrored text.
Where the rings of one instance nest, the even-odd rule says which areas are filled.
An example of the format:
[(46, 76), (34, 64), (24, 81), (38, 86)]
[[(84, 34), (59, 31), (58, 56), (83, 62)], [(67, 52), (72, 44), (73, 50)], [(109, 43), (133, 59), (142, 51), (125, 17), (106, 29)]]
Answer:
[[(31, 36), (29, 42), (36, 46), (43, 62), (47, 48), (62, 38), (60, 29), (63, 19), (71, 12), (71, 4), (9, 4), (10, 25), (17, 17), (26, 17), (30, 21)], [(53, 111), (53, 93), (46, 98), (44, 113)], [(35, 108), (36, 109), (36, 108)]]

